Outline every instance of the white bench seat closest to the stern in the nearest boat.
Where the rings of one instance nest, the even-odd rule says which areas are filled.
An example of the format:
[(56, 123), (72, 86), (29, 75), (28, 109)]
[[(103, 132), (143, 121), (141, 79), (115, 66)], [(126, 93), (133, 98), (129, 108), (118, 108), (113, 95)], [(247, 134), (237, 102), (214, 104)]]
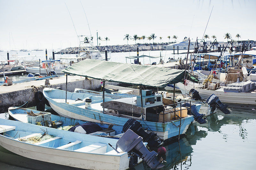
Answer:
[(89, 146), (85, 146), (75, 151), (78, 152), (91, 152), (91, 153), (106, 153), (107, 144), (94, 143)]

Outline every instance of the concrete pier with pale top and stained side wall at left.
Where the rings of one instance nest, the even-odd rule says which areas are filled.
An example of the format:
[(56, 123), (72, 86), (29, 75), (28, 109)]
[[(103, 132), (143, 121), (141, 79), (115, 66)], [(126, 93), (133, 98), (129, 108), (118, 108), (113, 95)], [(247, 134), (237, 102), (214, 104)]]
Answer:
[[(66, 90), (66, 77), (50, 79), (50, 85), (44, 85), (45, 80), (36, 80), (13, 84), (11, 86), (0, 86), (0, 113), (8, 111), (9, 107), (21, 106), (28, 101), (28, 107), (36, 106), (35, 94), (38, 90), (43, 91), (45, 87), (60, 87)], [(106, 84), (118, 85), (115, 82), (106, 82)], [(75, 88), (94, 90), (101, 87), (101, 80), (85, 79), (80, 76), (68, 76), (68, 92), (74, 92)]]

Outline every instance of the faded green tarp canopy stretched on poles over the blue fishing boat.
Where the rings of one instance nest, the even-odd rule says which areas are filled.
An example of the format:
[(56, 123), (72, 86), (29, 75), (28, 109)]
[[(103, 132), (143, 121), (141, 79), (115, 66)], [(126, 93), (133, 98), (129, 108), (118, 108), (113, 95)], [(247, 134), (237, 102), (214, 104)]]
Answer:
[(109, 82), (152, 87), (165, 87), (168, 84), (181, 82), (185, 73), (185, 70), (93, 59), (85, 59), (62, 71)]

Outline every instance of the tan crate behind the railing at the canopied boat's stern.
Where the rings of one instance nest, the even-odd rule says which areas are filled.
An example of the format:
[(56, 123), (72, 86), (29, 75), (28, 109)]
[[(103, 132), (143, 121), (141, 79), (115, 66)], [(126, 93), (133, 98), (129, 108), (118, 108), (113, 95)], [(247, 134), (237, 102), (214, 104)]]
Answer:
[[(176, 110), (175, 114), (180, 116), (180, 107), (176, 107), (175, 110)], [(187, 108), (181, 107), (181, 117), (186, 117), (187, 115), (188, 115)], [(174, 108), (167, 109), (164, 112), (161, 112), (159, 114), (159, 122), (170, 121), (170, 120), (173, 120), (173, 118), (174, 118)], [(176, 118), (178, 117), (176, 116)]]

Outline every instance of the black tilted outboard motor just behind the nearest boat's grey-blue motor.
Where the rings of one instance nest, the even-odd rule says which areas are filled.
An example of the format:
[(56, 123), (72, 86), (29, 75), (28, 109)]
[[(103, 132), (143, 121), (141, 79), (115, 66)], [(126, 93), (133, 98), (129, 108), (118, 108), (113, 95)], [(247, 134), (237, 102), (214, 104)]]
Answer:
[(148, 143), (149, 147), (157, 147), (162, 144), (162, 141), (156, 140), (156, 134), (150, 132), (149, 134), (144, 131), (140, 122), (135, 119), (129, 119), (123, 126), (123, 132), (126, 132), (128, 129), (131, 129), (134, 133), (141, 136), (144, 142)]

